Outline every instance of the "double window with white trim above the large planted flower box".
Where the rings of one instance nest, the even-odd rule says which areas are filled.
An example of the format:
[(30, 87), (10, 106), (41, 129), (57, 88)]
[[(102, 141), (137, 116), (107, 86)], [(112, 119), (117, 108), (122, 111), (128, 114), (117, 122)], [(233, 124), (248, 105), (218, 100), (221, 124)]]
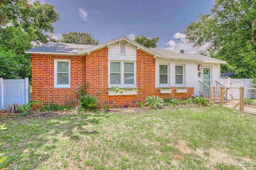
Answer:
[(110, 85), (136, 86), (136, 63), (126, 61), (110, 61)]

